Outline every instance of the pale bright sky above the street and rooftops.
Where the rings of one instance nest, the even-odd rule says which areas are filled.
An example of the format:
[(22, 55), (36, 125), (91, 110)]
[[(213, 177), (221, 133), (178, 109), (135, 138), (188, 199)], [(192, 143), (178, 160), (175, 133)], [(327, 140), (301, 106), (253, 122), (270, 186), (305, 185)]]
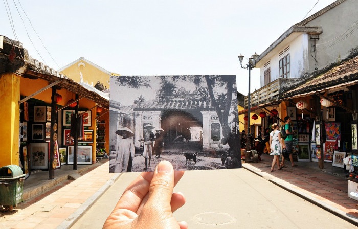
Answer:
[(19, 40), (55, 70), (84, 57), (121, 75), (236, 75), (237, 90), (246, 95), (248, 71), (237, 56), (260, 54), (312, 8), (307, 16), (332, 2), (4, 0), (0, 35)]

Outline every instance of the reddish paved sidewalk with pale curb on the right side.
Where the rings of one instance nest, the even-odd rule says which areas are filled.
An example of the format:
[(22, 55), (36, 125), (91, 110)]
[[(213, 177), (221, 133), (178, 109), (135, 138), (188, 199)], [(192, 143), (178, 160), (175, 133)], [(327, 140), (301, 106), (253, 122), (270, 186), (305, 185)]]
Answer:
[(343, 168), (332, 167), (324, 163), (324, 169), (318, 168), (318, 162), (295, 162), (297, 167), (270, 172), (273, 156), (262, 155), (259, 163), (243, 163), (242, 167), (273, 182), (307, 201), (331, 212), (358, 226), (358, 201), (348, 197), (348, 181)]

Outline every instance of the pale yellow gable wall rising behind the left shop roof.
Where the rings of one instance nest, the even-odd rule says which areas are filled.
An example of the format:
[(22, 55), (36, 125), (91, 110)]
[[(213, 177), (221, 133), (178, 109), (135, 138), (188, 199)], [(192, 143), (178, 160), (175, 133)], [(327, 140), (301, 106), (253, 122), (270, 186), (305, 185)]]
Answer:
[(110, 75), (84, 60), (79, 60), (71, 66), (66, 67), (61, 73), (77, 83), (80, 82), (80, 73), (82, 73), (83, 82), (93, 83), (93, 86), (95, 86), (99, 80), (103, 86), (109, 88)]

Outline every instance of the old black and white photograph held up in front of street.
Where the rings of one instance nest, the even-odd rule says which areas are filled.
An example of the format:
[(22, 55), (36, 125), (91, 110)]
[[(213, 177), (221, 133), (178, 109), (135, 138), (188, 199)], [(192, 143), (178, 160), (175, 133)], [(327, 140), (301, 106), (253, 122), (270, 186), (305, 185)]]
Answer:
[(111, 76), (109, 172), (241, 168), (235, 75)]

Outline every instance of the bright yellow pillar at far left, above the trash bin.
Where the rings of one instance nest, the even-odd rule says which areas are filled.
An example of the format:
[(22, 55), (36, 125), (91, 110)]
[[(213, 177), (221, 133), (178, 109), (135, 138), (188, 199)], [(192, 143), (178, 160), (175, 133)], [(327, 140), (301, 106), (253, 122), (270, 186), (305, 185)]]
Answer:
[(20, 76), (0, 75), (0, 167), (19, 165)]

